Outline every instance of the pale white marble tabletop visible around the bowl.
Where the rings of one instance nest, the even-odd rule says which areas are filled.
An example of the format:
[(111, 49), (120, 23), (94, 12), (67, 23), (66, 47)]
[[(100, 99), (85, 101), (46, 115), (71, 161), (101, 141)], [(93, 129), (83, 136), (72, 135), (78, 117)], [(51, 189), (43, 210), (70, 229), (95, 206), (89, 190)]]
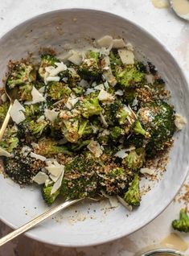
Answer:
[[(72, 7), (107, 10), (139, 23), (166, 43), (186, 72), (189, 81), (189, 23), (176, 18), (169, 8), (154, 8), (150, 0), (1, 0), (0, 36), (18, 23), (37, 14)], [(171, 220), (178, 217), (181, 205), (173, 202), (158, 218), (143, 229), (129, 237), (105, 245), (68, 249), (44, 245), (23, 236), (3, 246), (0, 249), (0, 256), (131, 256), (146, 246), (158, 244), (162, 238), (173, 231)], [(10, 228), (0, 222), (0, 237), (8, 232)], [(189, 242), (189, 235), (182, 234), (182, 237)], [(186, 254), (189, 255), (189, 250)]]

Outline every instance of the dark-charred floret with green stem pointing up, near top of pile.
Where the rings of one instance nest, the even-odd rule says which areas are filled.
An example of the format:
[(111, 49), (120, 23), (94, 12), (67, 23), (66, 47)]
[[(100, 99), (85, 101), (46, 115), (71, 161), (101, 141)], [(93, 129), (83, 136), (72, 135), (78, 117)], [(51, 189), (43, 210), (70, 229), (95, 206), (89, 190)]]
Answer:
[(99, 53), (88, 52), (88, 56), (80, 65), (78, 72), (84, 80), (99, 80), (101, 78), (101, 68), (98, 66)]

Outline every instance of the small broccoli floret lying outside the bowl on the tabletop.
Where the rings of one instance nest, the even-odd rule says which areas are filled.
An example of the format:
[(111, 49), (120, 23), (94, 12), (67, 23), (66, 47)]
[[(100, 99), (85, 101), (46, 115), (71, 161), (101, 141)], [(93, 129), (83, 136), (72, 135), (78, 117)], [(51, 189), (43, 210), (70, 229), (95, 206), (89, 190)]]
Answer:
[(189, 232), (189, 216), (185, 209), (180, 210), (179, 220), (172, 221), (172, 227), (180, 232)]

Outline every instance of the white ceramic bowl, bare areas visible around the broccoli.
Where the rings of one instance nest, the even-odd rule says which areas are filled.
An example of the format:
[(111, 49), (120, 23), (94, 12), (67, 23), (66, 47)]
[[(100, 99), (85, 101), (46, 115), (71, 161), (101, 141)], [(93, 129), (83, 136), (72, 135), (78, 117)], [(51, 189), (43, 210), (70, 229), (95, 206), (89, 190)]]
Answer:
[[(189, 120), (187, 81), (171, 53), (138, 24), (99, 10), (57, 10), (14, 27), (0, 39), (0, 77), (2, 79), (6, 72), (8, 60), (18, 60), (27, 56), (27, 52), (38, 52), (39, 47), (53, 46), (57, 52), (62, 52), (64, 47), (73, 47), (74, 44), (82, 47), (88, 39), (98, 39), (103, 35), (129, 39), (138, 52), (149, 58), (171, 90), (175, 109)], [(188, 126), (185, 126), (175, 136), (163, 179), (142, 197), (141, 206), (128, 216), (122, 206), (105, 214), (102, 203), (85, 202), (64, 211), (61, 214), (63, 219), (44, 221), (27, 235), (59, 246), (92, 246), (142, 228), (171, 203), (183, 184), (188, 170), (188, 144)], [(0, 175), (0, 188), (0, 218), (14, 229), (47, 209), (38, 188), (19, 188), (3, 175)], [(73, 223), (72, 215), (78, 214), (76, 210), (80, 221)]]

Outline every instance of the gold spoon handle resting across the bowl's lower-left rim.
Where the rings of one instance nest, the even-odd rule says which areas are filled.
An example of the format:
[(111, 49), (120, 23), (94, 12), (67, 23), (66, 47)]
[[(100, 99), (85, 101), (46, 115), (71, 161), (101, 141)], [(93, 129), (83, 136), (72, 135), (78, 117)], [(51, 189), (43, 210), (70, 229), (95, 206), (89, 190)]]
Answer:
[(36, 217), (32, 221), (27, 222), (27, 224), (22, 225), (20, 228), (14, 230), (13, 232), (8, 233), (5, 237), (0, 238), (0, 246), (6, 244), (6, 242), (9, 242), (15, 237), (18, 237), (20, 234), (25, 233), (27, 230), (33, 228), (35, 225), (46, 220), (48, 217), (51, 217), (53, 214), (60, 212), (60, 210), (65, 209), (72, 204), (76, 204), (80, 200), (83, 200), (83, 199), (68, 200), (48, 210), (46, 213), (39, 215), (39, 217)]

